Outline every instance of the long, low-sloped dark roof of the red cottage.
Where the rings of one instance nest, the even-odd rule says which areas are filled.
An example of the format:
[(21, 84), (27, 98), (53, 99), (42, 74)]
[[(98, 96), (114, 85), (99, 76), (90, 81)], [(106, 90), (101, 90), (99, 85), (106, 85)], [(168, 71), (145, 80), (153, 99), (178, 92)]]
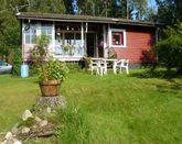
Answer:
[(117, 18), (90, 16), (90, 15), (71, 15), (56, 13), (38, 13), (38, 12), (21, 12), (17, 14), (18, 19), (22, 20), (42, 20), (42, 21), (62, 21), (62, 22), (92, 22), (92, 23), (110, 23), (126, 24), (139, 26), (159, 26), (160, 24), (143, 21), (133, 21)]

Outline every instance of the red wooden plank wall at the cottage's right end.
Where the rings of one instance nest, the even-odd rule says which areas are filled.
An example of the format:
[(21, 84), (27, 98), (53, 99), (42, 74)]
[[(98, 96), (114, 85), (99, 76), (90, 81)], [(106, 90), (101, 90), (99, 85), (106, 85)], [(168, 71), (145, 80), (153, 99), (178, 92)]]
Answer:
[(149, 54), (156, 40), (154, 29), (126, 27), (127, 47), (115, 48), (118, 58), (127, 58), (130, 63), (152, 63)]

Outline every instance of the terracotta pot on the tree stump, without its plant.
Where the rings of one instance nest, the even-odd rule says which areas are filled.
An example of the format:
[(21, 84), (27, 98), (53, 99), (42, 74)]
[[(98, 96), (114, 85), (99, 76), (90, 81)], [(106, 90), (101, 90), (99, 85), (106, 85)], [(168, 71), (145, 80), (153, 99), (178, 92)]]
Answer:
[(42, 97), (58, 96), (60, 85), (61, 85), (61, 82), (58, 80), (40, 81), (40, 88), (41, 88)]

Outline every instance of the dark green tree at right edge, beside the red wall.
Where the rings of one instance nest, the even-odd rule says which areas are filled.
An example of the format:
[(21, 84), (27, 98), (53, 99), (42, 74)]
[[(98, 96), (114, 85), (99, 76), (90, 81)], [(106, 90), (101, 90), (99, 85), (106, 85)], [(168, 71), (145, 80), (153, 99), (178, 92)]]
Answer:
[(182, 23), (175, 27), (168, 26), (163, 33), (163, 38), (156, 46), (159, 63), (163, 63), (168, 69), (176, 67), (182, 74)]

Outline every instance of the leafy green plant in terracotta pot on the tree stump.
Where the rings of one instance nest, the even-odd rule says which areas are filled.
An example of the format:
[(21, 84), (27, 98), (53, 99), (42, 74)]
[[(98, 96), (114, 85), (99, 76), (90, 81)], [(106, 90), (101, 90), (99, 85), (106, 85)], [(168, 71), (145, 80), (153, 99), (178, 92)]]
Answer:
[(49, 59), (39, 68), (40, 88), (43, 97), (58, 96), (60, 85), (66, 79), (68, 68), (65, 63)]

